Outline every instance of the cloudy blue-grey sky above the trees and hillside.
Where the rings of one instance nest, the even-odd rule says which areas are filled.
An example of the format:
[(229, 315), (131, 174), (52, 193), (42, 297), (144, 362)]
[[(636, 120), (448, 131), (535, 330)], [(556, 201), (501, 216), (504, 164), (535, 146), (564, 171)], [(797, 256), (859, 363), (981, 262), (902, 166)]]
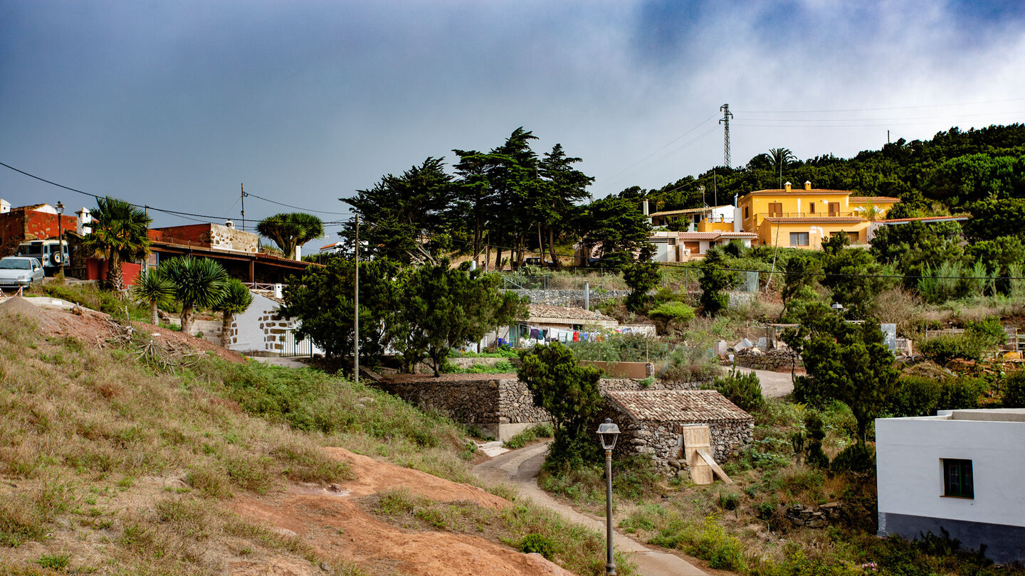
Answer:
[[(239, 225), (243, 184), (247, 228), (337, 221), (520, 126), (596, 198), (660, 188), (725, 163), (723, 105), (733, 166), (1025, 121), (1025, 2), (0, 0), (0, 162), (200, 215), (155, 227)], [(95, 204), (3, 166), (0, 198)]]

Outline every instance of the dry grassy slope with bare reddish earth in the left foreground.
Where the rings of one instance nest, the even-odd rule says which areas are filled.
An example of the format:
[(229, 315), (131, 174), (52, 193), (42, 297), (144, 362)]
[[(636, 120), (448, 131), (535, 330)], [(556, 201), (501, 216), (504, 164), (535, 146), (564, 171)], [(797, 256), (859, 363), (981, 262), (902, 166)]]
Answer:
[(528, 534), (602, 570), (445, 418), (78, 312), (0, 304), (0, 574), (570, 573)]

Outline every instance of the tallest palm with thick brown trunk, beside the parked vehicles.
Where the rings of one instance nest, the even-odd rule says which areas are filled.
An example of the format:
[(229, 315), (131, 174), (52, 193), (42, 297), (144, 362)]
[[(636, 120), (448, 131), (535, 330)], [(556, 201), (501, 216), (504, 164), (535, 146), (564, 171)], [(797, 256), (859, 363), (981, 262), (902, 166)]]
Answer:
[(83, 240), (87, 253), (107, 258), (107, 287), (124, 288), (121, 261), (146, 257), (150, 253), (147, 231), (153, 218), (146, 210), (117, 198), (96, 198), (92, 212), (92, 234)]

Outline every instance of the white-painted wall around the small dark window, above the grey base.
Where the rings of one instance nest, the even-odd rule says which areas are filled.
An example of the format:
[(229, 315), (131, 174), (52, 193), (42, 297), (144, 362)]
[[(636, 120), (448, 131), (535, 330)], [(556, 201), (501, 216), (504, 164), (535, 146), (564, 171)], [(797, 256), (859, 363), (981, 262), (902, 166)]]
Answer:
[[(879, 418), (875, 450), (880, 513), (1025, 527), (1025, 422)], [(943, 496), (943, 458), (972, 460), (975, 498)]]

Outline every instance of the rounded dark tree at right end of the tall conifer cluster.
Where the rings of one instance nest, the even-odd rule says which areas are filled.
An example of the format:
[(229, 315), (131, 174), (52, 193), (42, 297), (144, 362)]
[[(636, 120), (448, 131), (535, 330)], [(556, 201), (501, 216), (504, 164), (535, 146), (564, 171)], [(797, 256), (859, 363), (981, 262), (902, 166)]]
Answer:
[(637, 203), (614, 196), (590, 203), (578, 218), (577, 229), (581, 244), (600, 246), (602, 259), (612, 265), (633, 261), (633, 252), (651, 234), (651, 223)]

